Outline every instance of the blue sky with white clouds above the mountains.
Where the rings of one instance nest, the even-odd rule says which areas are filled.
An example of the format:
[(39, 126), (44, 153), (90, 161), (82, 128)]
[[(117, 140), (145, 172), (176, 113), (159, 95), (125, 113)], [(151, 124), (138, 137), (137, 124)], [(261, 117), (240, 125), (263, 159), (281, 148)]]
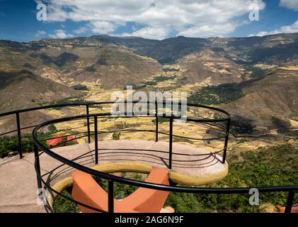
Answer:
[[(40, 3), (47, 7), (46, 21), (37, 19)], [(257, 9), (259, 20), (250, 21)], [(298, 33), (298, 0), (0, 0), (0, 39), (19, 42), (99, 34), (164, 39), (274, 33)]]

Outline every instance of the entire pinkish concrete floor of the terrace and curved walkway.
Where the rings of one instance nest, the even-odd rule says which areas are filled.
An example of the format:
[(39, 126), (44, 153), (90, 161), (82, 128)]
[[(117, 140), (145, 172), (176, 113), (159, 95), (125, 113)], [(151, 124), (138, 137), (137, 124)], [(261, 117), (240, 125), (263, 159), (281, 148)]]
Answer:
[[(98, 141), (99, 164), (110, 162), (142, 162), (154, 167), (168, 167), (168, 143), (139, 140)], [(86, 166), (94, 165), (94, 143), (72, 145), (56, 148), (53, 151), (68, 159)], [(161, 151), (164, 153), (156, 152)], [(91, 152), (91, 153), (90, 153)], [(87, 155), (84, 155), (89, 153)], [(181, 153), (178, 155), (175, 153)], [(217, 175), (227, 170), (217, 155), (198, 154), (209, 153), (201, 148), (173, 143), (173, 172), (190, 177), (205, 177)], [(46, 173), (62, 165), (47, 154), (40, 156), (41, 172)], [(53, 182), (69, 176), (73, 171), (65, 165), (47, 175)], [(53, 177), (57, 177), (54, 179)], [(46, 177), (45, 177), (46, 178)], [(18, 156), (7, 158), (0, 162), (0, 212), (45, 212), (43, 206), (37, 204), (37, 181), (34, 168), (34, 154), (27, 153), (22, 160)]]

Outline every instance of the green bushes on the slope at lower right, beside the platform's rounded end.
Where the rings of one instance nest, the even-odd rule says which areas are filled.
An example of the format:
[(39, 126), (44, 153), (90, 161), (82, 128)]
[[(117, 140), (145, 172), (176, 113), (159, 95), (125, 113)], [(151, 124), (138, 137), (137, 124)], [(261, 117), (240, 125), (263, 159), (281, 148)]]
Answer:
[[(297, 184), (298, 149), (292, 145), (229, 153), (229, 175), (207, 187), (268, 187)], [(260, 206), (248, 204), (249, 194), (171, 193), (166, 205), (176, 212), (263, 212), (264, 205), (285, 205), (286, 192), (260, 194)], [(294, 203), (297, 203), (298, 199)], [(263, 205), (263, 206), (262, 206)]]

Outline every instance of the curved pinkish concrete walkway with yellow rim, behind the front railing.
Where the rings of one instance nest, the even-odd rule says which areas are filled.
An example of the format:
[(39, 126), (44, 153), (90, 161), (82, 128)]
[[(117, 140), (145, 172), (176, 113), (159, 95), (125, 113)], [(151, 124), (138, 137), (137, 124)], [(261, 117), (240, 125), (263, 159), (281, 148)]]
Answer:
[[(88, 146), (88, 147), (87, 147)], [(55, 148), (55, 153), (76, 152), (83, 154), (91, 151), (95, 160), (94, 143), (71, 145)], [(151, 167), (163, 167), (169, 170), (172, 182), (186, 185), (202, 185), (217, 182), (228, 173), (228, 164), (222, 163), (222, 157), (212, 154), (204, 148), (173, 144), (172, 168), (168, 169), (168, 143), (147, 140), (109, 140), (98, 142), (98, 164), (110, 164), (110, 172), (120, 171), (119, 166), (130, 164), (130, 172), (147, 172)], [(134, 169), (135, 167), (135, 169)]]

